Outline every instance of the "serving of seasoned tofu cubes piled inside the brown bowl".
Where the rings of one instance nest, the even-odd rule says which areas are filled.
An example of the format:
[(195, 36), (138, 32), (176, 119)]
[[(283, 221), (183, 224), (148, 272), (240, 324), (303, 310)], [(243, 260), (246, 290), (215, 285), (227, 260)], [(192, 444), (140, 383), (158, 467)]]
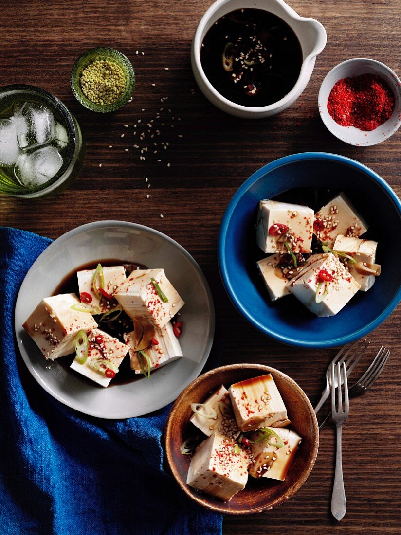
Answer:
[[(203, 403), (192, 403), (193, 424), (206, 435), (187, 439), (192, 455), (186, 483), (224, 502), (243, 490), (248, 475), (284, 481), (301, 437), (286, 426), (287, 409), (270, 373), (221, 385)], [(208, 437), (208, 438), (207, 438)]]

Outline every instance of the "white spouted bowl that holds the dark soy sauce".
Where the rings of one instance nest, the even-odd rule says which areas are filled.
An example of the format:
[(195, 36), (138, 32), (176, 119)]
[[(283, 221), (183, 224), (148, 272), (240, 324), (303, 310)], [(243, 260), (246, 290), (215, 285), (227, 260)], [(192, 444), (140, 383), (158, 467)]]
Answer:
[[(202, 41), (209, 28), (227, 13), (236, 9), (245, 9), (247, 7), (269, 11), (284, 20), (284, 22), (286, 22), (297, 35), (302, 49), (302, 56), (304, 58), (298, 80), (291, 91), (281, 100), (269, 104), (268, 106), (259, 106), (258, 108), (241, 106), (240, 104), (231, 102), (228, 98), (225, 98), (218, 93), (206, 77), (200, 60)], [(316, 56), (326, 46), (326, 41), (326, 30), (320, 22), (314, 19), (300, 17), (298, 13), (283, 2), (283, 0), (217, 0), (217, 2), (209, 7), (201, 18), (198, 28), (196, 28), (191, 49), (192, 70), (196, 83), (198, 83), (203, 95), (205, 95), (212, 104), (217, 106), (217, 108), (236, 117), (260, 119), (262, 117), (275, 115), (276, 113), (285, 110), (297, 100), (311, 78)]]

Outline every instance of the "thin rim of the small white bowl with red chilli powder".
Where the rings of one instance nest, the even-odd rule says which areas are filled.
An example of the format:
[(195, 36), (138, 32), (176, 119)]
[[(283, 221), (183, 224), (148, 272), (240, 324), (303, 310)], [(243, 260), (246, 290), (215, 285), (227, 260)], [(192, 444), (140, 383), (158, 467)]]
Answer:
[[(337, 65), (335, 65), (326, 74), (326, 76), (323, 78), (323, 81), (322, 81), (322, 83), (320, 85), (320, 88), (319, 88), (319, 94), (317, 95), (317, 108), (319, 109), (319, 115), (320, 115), (320, 118), (322, 119), (322, 122), (323, 122), (324, 126), (326, 126), (326, 128), (328, 129), (330, 134), (336, 136), (337, 139), (339, 139), (340, 141), (343, 141), (344, 143), (352, 145), (353, 147), (372, 147), (373, 145), (378, 145), (379, 143), (382, 143), (383, 141), (389, 139), (389, 137), (391, 137), (393, 134), (395, 134), (397, 132), (398, 128), (401, 126), (401, 121), (398, 121), (398, 126), (394, 126), (393, 128), (391, 128), (389, 130), (389, 133), (386, 136), (382, 137), (382, 139), (380, 139), (379, 141), (376, 141), (375, 143), (361, 144), (361, 143), (353, 143), (350, 139), (344, 139), (344, 136), (341, 136), (341, 135), (337, 134), (328, 125), (326, 119), (323, 116), (323, 113), (320, 113), (320, 110), (321, 110), (322, 106), (326, 105), (326, 103), (323, 102), (322, 95), (323, 95), (323, 90), (326, 89), (327, 79), (329, 78), (330, 74), (335, 72), (339, 68), (343, 67), (344, 65), (350, 65), (352, 63), (357, 64), (357, 63), (360, 63), (360, 62), (368, 62), (368, 63), (373, 64), (373, 65), (380, 65), (385, 71), (387, 71), (388, 74), (389, 74), (389, 78), (391, 79), (391, 82), (392, 82), (391, 83), (391, 87), (396, 93), (398, 93), (399, 99), (401, 101), (401, 81), (399, 80), (397, 74), (388, 65), (386, 65), (385, 63), (379, 62), (377, 59), (350, 58), (350, 59), (345, 59), (343, 62), (338, 63)], [(341, 126), (341, 125), (339, 125), (339, 126)], [(348, 127), (343, 127), (343, 128), (348, 128)], [(374, 132), (374, 130), (366, 132), (366, 134), (369, 135), (370, 132)]]

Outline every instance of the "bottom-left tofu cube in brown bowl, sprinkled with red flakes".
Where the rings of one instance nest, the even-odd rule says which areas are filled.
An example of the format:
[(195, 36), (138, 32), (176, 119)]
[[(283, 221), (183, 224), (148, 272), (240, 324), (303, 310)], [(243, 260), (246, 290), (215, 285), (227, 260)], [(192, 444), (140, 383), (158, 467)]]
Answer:
[(224, 502), (245, 488), (249, 456), (243, 449), (236, 453), (236, 442), (220, 433), (203, 441), (192, 457), (187, 485)]

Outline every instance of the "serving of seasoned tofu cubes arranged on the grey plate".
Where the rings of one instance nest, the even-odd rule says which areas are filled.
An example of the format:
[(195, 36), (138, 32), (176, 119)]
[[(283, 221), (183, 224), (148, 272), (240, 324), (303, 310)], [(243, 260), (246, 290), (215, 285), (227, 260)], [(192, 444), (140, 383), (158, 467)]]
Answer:
[(163, 269), (98, 264), (76, 275), (71, 282), (80, 299), (75, 293), (46, 297), (23, 325), (45, 358), (73, 355), (72, 370), (107, 387), (127, 354), (132, 377), (148, 379), (183, 356), (183, 324), (174, 316), (184, 301)]

